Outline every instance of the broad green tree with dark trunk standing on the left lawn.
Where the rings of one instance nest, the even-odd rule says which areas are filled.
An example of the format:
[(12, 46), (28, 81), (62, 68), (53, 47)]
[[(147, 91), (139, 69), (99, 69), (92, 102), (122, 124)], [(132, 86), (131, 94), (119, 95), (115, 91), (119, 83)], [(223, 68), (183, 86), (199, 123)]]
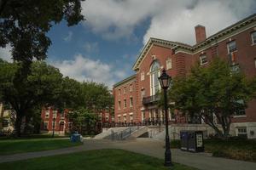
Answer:
[(32, 63), (31, 72), (17, 82), (20, 74), (17, 63), (0, 62), (0, 97), (15, 111), (15, 131), (20, 136), (21, 121), (34, 109), (54, 105), (61, 95), (62, 75), (45, 62)]

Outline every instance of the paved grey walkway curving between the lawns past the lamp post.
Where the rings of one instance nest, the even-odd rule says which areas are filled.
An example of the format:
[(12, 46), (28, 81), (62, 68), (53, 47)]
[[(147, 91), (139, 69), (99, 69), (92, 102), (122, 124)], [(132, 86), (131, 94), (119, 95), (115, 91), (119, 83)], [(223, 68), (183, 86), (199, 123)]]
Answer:
[[(150, 139), (137, 139), (125, 141), (109, 141), (109, 140), (84, 140), (84, 144), (72, 148), (64, 148), (60, 150), (45, 150), (39, 152), (21, 153), (11, 156), (0, 156), (0, 163), (7, 161), (19, 161), (29, 158), (41, 156), (54, 156), (60, 154), (68, 154), (83, 150), (99, 150), (99, 149), (122, 149), (142, 153), (148, 156), (164, 159), (164, 143)], [(197, 167), (206, 170), (253, 170), (256, 169), (256, 163), (247, 161), (236, 161), (218, 157), (212, 157), (207, 153), (190, 153), (181, 150), (172, 150), (172, 161)]]

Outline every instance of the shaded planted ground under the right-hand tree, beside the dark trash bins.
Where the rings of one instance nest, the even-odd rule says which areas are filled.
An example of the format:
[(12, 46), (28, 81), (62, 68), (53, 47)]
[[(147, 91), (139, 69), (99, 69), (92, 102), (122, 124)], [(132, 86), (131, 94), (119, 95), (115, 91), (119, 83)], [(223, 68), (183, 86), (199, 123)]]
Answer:
[[(205, 139), (205, 151), (212, 156), (256, 162), (256, 140), (249, 139)], [(172, 148), (180, 148), (180, 140), (173, 140)]]

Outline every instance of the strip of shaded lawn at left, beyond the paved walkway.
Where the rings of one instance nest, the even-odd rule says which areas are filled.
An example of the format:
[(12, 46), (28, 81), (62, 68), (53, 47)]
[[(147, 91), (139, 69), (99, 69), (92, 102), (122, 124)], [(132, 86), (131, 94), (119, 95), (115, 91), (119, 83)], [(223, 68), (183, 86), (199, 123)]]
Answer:
[(0, 155), (31, 152), (39, 150), (55, 150), (82, 144), (71, 143), (69, 139), (5, 139), (0, 140)]

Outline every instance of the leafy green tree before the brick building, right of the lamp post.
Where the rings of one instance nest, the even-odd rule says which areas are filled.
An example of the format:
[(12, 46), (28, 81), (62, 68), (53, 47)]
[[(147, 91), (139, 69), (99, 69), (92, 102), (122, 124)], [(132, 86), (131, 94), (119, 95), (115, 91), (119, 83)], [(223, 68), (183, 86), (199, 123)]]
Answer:
[[(188, 77), (177, 77), (169, 97), (177, 110), (201, 116), (219, 137), (227, 139), (231, 117), (247, 107), (247, 102), (255, 97), (255, 89), (255, 79), (247, 78), (241, 71), (231, 71), (228, 62), (216, 58), (208, 67), (195, 65)], [(214, 123), (214, 115), (222, 131)]]

